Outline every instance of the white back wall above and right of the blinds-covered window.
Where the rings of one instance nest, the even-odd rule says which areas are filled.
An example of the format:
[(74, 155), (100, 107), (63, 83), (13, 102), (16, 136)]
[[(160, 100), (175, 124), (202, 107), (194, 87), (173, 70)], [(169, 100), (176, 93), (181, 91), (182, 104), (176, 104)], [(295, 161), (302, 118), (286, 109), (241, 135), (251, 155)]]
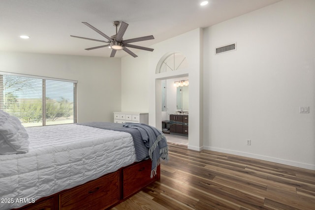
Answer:
[(0, 71), (78, 81), (78, 121), (121, 110), (121, 59), (0, 52)]

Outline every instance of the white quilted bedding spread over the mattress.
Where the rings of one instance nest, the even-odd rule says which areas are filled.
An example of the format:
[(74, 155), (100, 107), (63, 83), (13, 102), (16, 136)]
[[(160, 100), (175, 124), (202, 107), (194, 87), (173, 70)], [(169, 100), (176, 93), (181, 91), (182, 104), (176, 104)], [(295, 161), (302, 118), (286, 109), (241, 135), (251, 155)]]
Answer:
[[(29, 152), (0, 155), (0, 209), (18, 208), (136, 161), (129, 133), (66, 124), (26, 128)], [(27, 199), (27, 200), (26, 200)]]

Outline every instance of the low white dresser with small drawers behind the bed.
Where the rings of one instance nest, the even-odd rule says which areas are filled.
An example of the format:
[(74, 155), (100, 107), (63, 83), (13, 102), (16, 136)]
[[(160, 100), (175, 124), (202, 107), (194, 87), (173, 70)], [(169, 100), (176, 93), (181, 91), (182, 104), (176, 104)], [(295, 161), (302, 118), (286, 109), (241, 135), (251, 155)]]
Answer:
[(140, 112), (114, 112), (114, 122), (135, 122), (149, 124), (149, 113)]

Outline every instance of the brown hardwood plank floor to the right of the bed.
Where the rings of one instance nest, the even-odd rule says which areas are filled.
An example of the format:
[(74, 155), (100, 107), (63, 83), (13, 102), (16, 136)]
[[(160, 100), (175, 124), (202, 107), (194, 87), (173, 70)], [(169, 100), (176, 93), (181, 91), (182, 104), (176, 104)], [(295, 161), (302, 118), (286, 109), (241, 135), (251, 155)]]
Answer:
[(315, 171), (169, 143), (161, 179), (112, 210), (315, 210)]

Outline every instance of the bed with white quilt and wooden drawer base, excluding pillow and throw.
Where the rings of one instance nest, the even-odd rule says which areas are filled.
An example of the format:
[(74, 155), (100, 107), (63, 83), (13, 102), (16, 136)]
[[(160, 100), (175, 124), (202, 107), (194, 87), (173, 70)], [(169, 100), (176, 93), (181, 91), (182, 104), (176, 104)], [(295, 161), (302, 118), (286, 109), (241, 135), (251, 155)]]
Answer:
[(82, 124), (26, 131), (27, 153), (0, 155), (1, 210), (106, 209), (159, 179), (128, 132)]

